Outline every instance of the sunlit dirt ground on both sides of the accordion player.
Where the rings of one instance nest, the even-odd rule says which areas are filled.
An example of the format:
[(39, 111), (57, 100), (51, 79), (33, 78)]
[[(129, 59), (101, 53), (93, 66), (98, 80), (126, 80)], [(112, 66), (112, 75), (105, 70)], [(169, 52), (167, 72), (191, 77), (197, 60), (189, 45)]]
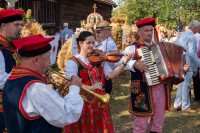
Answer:
[[(128, 112), (129, 105), (129, 72), (124, 72), (114, 79), (114, 87), (111, 93), (111, 115), (116, 133), (132, 133), (134, 116)], [(177, 86), (171, 92), (173, 104)], [(192, 94), (192, 98), (193, 98)], [(191, 107), (197, 109), (197, 113), (189, 114), (173, 110), (166, 112), (163, 133), (200, 133), (200, 103), (191, 101)]]

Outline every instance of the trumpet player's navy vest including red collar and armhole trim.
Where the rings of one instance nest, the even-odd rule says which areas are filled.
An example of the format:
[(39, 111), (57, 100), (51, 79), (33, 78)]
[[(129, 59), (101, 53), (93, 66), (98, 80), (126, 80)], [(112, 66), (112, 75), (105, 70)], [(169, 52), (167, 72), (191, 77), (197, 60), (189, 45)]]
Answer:
[(37, 74), (15, 67), (5, 84), (3, 108), (9, 133), (61, 133), (62, 131), (61, 128), (50, 125), (41, 116), (28, 117), (23, 111), (21, 100), (26, 89), (34, 82), (44, 82), (35, 75)]

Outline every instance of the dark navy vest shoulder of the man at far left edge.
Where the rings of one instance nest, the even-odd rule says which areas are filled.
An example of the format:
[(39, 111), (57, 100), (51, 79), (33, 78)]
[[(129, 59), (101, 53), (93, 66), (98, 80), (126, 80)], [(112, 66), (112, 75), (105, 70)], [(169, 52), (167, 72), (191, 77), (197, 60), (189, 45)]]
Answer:
[(3, 46), (0, 45), (0, 50), (4, 56), (5, 61), (5, 70), (7, 73), (10, 73), (13, 66), (16, 66), (15, 59), (13, 58), (13, 52), (7, 50)]

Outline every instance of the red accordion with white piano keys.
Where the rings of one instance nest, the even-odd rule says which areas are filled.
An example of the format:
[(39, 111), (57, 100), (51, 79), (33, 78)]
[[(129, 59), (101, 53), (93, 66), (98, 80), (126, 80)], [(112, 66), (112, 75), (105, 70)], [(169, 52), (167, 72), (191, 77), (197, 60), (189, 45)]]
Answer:
[(160, 42), (150, 47), (137, 49), (142, 60), (147, 64), (148, 71), (144, 72), (148, 86), (169, 81), (179, 84), (183, 79), (185, 64), (184, 48), (167, 42)]

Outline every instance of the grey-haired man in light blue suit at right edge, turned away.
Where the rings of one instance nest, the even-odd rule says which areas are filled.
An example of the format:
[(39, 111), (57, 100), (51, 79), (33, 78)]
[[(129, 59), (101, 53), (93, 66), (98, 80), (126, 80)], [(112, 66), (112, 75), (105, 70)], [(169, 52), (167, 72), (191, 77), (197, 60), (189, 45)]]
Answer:
[(197, 45), (194, 36), (194, 34), (199, 32), (200, 22), (191, 20), (188, 26), (188, 30), (180, 33), (176, 44), (184, 47), (186, 51), (186, 63), (189, 64), (190, 70), (186, 73), (185, 80), (178, 85), (174, 108), (176, 110), (194, 113), (196, 110), (190, 107), (190, 90), (193, 73), (196, 72), (197, 68), (200, 66), (200, 59), (197, 56)]

